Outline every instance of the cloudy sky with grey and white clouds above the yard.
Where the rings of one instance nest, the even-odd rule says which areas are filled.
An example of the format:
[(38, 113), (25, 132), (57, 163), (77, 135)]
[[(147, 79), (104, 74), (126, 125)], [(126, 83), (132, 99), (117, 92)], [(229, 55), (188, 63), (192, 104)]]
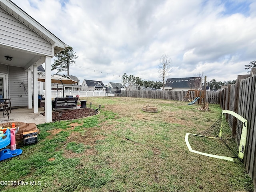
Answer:
[(235, 80), (256, 60), (254, 0), (12, 1), (74, 49), (70, 74), (81, 83), (121, 83), (124, 73), (160, 81), (164, 53), (168, 78)]

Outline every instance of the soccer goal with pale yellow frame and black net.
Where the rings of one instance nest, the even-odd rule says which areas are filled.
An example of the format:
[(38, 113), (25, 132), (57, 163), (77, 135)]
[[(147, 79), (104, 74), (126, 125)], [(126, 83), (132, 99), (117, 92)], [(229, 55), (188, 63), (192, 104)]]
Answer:
[[(230, 114), (230, 118), (236, 118), (241, 126), (240, 141), (236, 143), (232, 138), (232, 132), (224, 114)], [(247, 120), (237, 113), (223, 110), (220, 118), (207, 130), (199, 134), (186, 133), (185, 141), (190, 152), (204, 156), (234, 161), (234, 158), (244, 158), (244, 148), (247, 135)]]

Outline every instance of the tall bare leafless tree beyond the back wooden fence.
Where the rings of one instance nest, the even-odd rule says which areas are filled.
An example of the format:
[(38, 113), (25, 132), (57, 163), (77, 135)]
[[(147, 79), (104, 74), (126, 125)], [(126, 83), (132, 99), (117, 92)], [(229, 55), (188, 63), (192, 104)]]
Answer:
[(164, 90), (165, 79), (170, 75), (170, 70), (172, 69), (171, 63), (172, 63), (171, 58), (164, 53), (160, 58), (160, 63), (158, 65), (159, 76), (163, 82), (163, 90)]

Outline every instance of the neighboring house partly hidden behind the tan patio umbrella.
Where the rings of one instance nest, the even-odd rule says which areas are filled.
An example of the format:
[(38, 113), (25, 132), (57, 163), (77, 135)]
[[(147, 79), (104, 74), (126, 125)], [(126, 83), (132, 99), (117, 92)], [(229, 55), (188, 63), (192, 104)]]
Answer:
[[(67, 75), (61, 75), (61, 74), (56, 74), (56, 75), (59, 75), (59, 76), (71, 79), (71, 80), (76, 82), (75, 84), (64, 84), (64, 90), (71, 90), (71, 91), (80, 91), (81, 90), (80, 80), (76, 76), (72, 76), (72, 75), (67, 76)], [(57, 84), (56, 83), (52, 84), (52, 90), (57, 90), (57, 89), (58, 90), (62, 90), (63, 89), (63, 86), (62, 86), (61, 83), (58, 84), (58, 88), (57, 88)]]

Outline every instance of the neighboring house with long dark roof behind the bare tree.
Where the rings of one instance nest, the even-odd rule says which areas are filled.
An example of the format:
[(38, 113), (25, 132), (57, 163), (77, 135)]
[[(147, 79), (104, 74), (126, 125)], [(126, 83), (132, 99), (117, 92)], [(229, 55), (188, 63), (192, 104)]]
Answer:
[(188, 91), (201, 87), (202, 77), (168, 78), (164, 84), (164, 90), (174, 91)]

